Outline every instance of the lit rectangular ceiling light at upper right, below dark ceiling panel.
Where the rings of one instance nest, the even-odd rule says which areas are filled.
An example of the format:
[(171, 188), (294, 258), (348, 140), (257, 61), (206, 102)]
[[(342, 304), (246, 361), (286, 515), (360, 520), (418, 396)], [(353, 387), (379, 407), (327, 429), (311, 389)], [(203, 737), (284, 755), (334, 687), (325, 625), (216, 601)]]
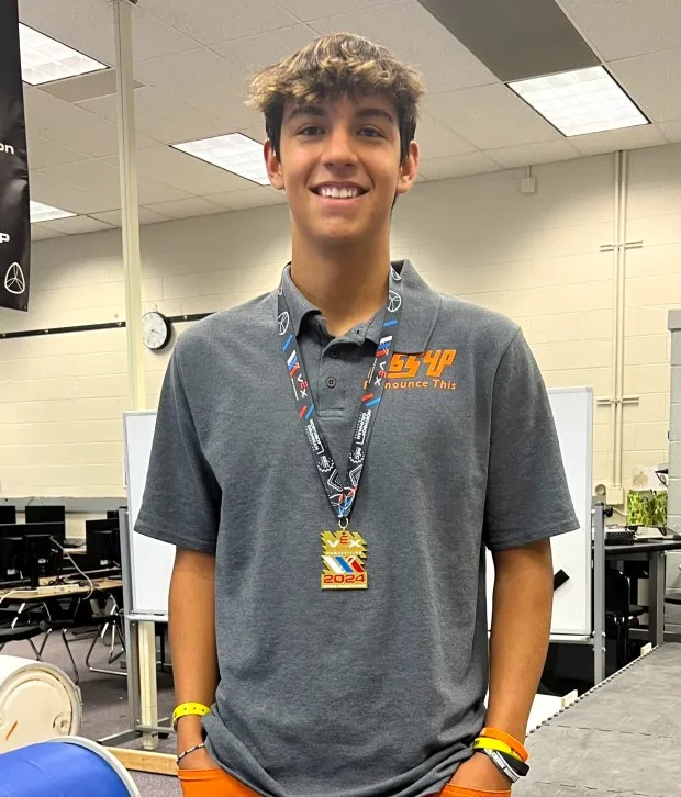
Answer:
[(566, 136), (649, 124), (603, 67), (517, 80), (509, 86)]

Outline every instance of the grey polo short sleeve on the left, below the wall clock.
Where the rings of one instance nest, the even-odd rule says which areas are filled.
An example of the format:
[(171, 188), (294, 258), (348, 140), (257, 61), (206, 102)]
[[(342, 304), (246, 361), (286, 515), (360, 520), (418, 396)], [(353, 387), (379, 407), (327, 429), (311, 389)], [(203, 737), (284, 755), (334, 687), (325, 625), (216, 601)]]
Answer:
[(160, 393), (135, 531), (178, 548), (215, 552), (221, 491), (197, 434), (175, 350)]

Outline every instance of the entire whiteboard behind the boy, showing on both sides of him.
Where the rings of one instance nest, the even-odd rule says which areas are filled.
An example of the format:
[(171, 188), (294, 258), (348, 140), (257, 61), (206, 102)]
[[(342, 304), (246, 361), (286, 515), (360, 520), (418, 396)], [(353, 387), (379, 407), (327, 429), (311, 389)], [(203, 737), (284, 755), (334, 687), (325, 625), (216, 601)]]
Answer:
[[(580, 528), (552, 539), (554, 572), (562, 569), (570, 580), (556, 593), (551, 633), (591, 633), (591, 460), (593, 391), (560, 388), (548, 391), (568, 486)], [(125, 413), (125, 474), (127, 481), (129, 548), (133, 614), (168, 617), (168, 590), (175, 546), (133, 531), (149, 465), (155, 412)], [(556, 518), (557, 520), (559, 518)], [(494, 564), (488, 551), (488, 620), (492, 611)]]

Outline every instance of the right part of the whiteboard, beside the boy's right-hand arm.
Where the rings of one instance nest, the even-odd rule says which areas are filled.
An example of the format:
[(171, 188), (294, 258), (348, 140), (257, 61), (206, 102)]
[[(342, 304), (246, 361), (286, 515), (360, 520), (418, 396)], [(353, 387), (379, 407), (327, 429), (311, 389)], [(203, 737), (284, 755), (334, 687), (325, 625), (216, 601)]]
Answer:
[[(593, 389), (552, 388), (548, 397), (558, 431), (568, 489), (580, 527), (551, 539), (554, 573), (570, 576), (554, 596), (551, 635), (588, 637), (591, 616), (591, 491), (593, 459)], [(556, 517), (559, 523), (562, 518)], [(487, 552), (488, 628), (492, 618), (494, 563)]]

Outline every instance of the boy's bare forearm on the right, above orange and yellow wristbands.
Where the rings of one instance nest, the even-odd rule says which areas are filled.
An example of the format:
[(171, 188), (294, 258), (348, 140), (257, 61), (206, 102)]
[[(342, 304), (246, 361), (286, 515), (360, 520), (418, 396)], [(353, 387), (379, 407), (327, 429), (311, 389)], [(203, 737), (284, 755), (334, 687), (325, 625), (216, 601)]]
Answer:
[(550, 541), (494, 555), (487, 725), (524, 741), (551, 626)]

